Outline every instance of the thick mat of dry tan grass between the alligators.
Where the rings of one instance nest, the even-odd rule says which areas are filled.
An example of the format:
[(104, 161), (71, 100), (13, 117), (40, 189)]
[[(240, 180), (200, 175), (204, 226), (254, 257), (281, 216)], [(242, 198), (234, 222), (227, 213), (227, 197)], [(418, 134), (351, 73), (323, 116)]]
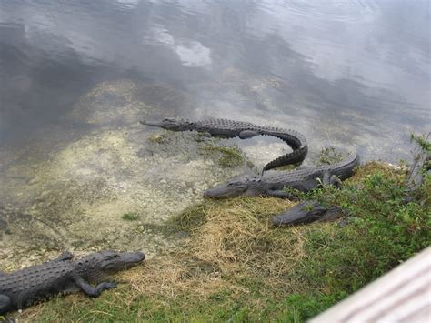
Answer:
[(269, 220), (293, 203), (276, 198), (205, 203), (205, 209), (188, 210), (202, 212), (205, 224), (191, 229), (179, 251), (155, 257), (142, 271), (121, 277), (138, 294), (172, 298), (185, 292), (205, 297), (223, 288), (248, 292), (238, 283), (245, 277), (265, 279), (266, 287), (286, 285), (284, 274), (304, 256), (305, 228), (275, 229)]

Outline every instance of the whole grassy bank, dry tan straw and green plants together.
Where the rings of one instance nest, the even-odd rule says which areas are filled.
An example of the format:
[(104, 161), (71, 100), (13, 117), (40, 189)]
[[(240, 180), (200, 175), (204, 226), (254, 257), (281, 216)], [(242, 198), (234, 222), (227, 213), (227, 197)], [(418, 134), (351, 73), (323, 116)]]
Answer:
[(188, 233), (184, 245), (119, 275), (125, 284), (100, 298), (55, 298), (14, 316), (44, 322), (303, 322), (430, 245), (431, 177), (405, 203), (405, 173), (368, 163), (341, 190), (302, 195), (346, 208), (346, 226), (271, 227), (271, 217), (292, 202), (205, 199), (165, 225), (167, 234)]

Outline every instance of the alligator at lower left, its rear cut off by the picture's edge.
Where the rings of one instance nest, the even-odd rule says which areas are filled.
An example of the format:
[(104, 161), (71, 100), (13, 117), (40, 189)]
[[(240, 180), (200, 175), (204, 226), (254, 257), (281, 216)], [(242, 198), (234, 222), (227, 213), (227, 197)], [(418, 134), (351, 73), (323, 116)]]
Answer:
[[(104, 250), (76, 261), (72, 261), (73, 257), (70, 252), (65, 252), (41, 265), (10, 274), (0, 272), (0, 315), (76, 289), (96, 298), (105, 289), (116, 287), (112, 281), (100, 282), (106, 274), (139, 264), (145, 259), (145, 254), (139, 251), (118, 253)], [(88, 281), (99, 284), (93, 287)]]

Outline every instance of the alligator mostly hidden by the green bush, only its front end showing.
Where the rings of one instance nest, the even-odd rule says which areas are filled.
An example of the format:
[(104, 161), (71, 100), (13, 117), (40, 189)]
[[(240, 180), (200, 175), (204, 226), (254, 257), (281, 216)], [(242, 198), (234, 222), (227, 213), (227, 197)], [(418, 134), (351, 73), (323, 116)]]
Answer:
[(274, 226), (293, 226), (314, 221), (331, 221), (343, 216), (340, 207), (324, 207), (317, 201), (304, 201), (273, 217)]

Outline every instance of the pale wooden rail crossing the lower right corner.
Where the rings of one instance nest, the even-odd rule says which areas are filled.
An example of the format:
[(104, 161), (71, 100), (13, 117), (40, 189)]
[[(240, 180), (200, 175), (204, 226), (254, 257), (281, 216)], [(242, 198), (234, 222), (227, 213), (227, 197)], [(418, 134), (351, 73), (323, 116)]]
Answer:
[(431, 322), (431, 247), (311, 319), (323, 322)]

